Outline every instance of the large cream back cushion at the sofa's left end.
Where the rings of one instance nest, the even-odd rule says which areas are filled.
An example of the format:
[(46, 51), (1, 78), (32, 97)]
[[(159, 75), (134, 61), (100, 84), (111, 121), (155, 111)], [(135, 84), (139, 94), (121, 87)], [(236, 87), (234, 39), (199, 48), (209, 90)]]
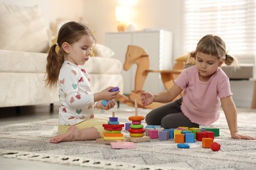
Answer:
[(46, 52), (49, 39), (39, 7), (0, 3), (0, 49)]

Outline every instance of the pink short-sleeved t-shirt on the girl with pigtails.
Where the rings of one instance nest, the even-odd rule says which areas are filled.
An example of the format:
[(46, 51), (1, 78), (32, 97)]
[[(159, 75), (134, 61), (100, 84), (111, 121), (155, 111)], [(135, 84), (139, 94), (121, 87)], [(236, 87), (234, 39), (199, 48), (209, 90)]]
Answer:
[(221, 98), (232, 95), (230, 82), (221, 68), (208, 82), (200, 81), (198, 74), (196, 66), (192, 66), (175, 80), (175, 84), (184, 90), (181, 110), (191, 122), (210, 125), (219, 119)]

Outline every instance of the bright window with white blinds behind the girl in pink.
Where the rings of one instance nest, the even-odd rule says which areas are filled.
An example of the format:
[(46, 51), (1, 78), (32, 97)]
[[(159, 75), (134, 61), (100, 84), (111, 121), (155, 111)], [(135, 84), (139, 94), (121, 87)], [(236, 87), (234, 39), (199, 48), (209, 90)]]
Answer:
[(207, 34), (219, 35), (231, 55), (256, 53), (255, 0), (184, 0), (182, 52)]

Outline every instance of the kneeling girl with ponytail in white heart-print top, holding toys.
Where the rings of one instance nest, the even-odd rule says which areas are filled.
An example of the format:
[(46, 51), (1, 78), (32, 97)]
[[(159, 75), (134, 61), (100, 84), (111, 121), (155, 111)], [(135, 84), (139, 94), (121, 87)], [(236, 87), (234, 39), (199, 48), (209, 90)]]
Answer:
[[(84, 65), (91, 56), (95, 37), (89, 27), (77, 22), (68, 22), (60, 28), (58, 40), (47, 56), (47, 85), (60, 87), (58, 136), (51, 143), (63, 141), (94, 140), (102, 136), (102, 124), (107, 119), (95, 118), (94, 109), (111, 109), (116, 105), (112, 100), (119, 90), (110, 92), (113, 86), (94, 93), (90, 77)], [(60, 48), (56, 52), (56, 46)], [(100, 100), (110, 101), (106, 107)]]

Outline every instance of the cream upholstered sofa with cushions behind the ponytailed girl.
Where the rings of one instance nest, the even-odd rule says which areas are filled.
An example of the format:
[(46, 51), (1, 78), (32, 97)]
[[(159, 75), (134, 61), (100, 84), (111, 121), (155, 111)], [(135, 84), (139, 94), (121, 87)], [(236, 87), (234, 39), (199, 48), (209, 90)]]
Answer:
[[(47, 50), (53, 37), (39, 7), (0, 3), (0, 22), (0, 107), (57, 103), (58, 88), (45, 87)], [(91, 76), (93, 91), (119, 86), (123, 93), (121, 61), (102, 44), (95, 44), (93, 52), (81, 65)]]

